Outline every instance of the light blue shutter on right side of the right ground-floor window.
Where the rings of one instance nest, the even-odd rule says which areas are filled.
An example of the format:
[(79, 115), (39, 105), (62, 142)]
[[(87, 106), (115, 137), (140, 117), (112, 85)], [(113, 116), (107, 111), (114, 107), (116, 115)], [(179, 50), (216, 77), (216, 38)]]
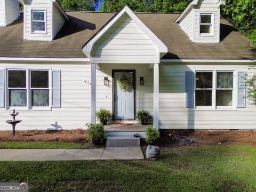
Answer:
[(244, 75), (246, 71), (238, 71), (238, 84), (237, 84), (237, 107), (246, 106), (246, 92), (244, 84)]

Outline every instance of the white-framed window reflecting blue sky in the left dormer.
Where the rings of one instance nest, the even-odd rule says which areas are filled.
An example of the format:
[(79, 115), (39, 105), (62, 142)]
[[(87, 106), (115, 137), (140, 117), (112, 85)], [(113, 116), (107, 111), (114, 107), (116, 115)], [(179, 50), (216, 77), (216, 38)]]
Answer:
[(45, 10), (31, 10), (32, 33), (46, 33), (46, 11)]

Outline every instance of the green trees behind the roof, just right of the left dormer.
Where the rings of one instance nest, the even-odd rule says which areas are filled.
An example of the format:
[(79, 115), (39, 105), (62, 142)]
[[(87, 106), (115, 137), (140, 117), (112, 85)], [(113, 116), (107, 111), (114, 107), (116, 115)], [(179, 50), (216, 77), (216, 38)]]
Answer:
[(63, 10), (67, 11), (95, 11), (93, 0), (58, 0)]

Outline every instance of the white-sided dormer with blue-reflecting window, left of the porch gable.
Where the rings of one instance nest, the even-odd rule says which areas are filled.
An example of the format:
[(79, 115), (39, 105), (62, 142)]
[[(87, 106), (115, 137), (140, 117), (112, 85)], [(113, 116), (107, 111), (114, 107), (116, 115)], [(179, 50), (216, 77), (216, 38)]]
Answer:
[(52, 41), (64, 23), (69, 20), (56, 0), (24, 0), (23, 38)]

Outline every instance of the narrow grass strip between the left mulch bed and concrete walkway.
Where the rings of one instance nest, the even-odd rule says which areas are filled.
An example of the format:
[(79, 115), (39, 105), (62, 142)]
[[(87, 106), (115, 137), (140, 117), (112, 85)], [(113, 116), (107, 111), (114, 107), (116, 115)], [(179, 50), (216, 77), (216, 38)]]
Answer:
[(20, 141), (1, 141), (0, 149), (80, 149), (83, 143), (69, 143), (61, 141), (47, 142), (20, 142)]

